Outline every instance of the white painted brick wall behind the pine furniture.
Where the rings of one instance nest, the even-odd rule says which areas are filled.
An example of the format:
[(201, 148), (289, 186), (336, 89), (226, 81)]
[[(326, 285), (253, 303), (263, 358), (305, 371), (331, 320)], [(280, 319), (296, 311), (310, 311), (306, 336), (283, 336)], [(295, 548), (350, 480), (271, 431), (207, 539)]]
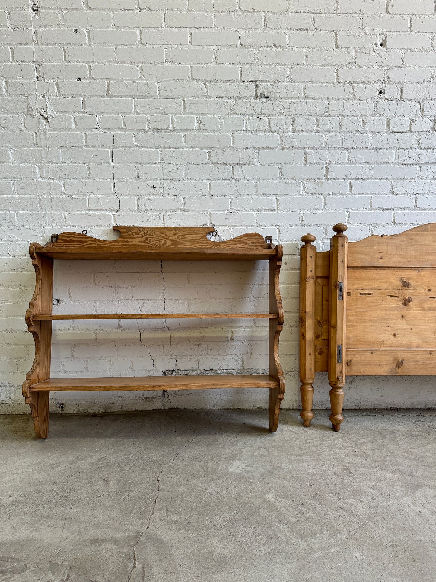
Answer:
[[(2, 411), (28, 411), (28, 243), (215, 225), (284, 244), (284, 406), (298, 248), (435, 221), (434, 0), (0, 0)], [(383, 91), (383, 94), (379, 94)], [(266, 309), (265, 265), (56, 262), (55, 313)], [(261, 321), (57, 322), (53, 375), (263, 371)], [(315, 406), (328, 405), (327, 378)], [(435, 406), (433, 378), (350, 378), (348, 407)], [(52, 409), (265, 406), (263, 391), (58, 393)]]

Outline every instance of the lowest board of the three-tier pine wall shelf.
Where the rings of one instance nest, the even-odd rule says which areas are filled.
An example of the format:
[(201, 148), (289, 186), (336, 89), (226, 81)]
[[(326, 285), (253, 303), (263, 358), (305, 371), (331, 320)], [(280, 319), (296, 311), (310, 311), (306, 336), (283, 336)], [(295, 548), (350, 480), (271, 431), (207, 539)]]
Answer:
[(212, 388), (278, 388), (278, 381), (269, 374), (50, 378), (31, 385), (30, 392), (198, 390)]

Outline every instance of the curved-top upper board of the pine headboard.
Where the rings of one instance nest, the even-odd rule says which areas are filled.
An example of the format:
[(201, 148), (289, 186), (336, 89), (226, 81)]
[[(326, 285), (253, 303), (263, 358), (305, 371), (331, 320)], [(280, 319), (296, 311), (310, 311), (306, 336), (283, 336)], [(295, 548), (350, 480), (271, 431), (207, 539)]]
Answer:
[(436, 267), (436, 223), (349, 243), (348, 267)]

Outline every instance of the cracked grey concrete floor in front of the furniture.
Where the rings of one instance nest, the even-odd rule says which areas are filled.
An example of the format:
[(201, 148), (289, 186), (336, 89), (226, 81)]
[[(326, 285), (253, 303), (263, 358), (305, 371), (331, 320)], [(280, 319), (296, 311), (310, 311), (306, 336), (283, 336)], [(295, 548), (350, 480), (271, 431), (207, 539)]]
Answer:
[(436, 579), (436, 411), (0, 417), (0, 580)]

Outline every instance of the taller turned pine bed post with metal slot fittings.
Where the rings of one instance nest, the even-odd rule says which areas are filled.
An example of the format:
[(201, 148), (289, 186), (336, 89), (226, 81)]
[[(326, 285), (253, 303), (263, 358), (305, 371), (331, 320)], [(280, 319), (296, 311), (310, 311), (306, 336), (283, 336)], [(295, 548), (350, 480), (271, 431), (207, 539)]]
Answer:
[(345, 386), (345, 324), (346, 324), (346, 265), (347, 227), (333, 226), (336, 233), (330, 241), (330, 307), (328, 324), (328, 382), (330, 389), (330, 421), (334, 431), (344, 422), (342, 406)]

